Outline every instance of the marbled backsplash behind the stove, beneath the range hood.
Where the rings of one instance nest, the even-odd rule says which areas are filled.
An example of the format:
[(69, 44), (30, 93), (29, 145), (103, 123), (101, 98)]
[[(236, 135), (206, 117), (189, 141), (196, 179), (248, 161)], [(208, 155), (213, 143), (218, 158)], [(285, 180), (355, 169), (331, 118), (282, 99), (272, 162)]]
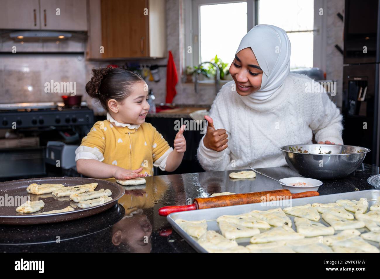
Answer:
[(0, 55), (0, 100), (14, 102), (61, 101), (64, 92), (45, 92), (45, 84), (75, 82), (76, 94), (83, 94), (86, 66), (83, 55), (4, 54)]

